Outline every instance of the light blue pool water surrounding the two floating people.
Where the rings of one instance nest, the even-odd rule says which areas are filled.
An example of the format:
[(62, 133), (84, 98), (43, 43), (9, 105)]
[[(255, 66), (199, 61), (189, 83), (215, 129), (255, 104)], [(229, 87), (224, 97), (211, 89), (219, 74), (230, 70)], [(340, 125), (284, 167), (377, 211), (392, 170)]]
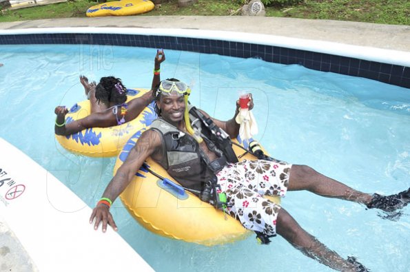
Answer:
[[(80, 74), (90, 81), (114, 75), (127, 87), (149, 88), (156, 50), (10, 45), (0, 46), (0, 52), (0, 136), (94, 207), (112, 178), (115, 158), (65, 151), (54, 140), (54, 107), (85, 99)], [(216, 118), (233, 116), (238, 91), (252, 92), (260, 129), (255, 138), (275, 158), (309, 165), (369, 193), (409, 188), (410, 90), (259, 59), (172, 50), (165, 54), (162, 78), (191, 83), (192, 103)], [(306, 191), (289, 192), (282, 204), (343, 257), (357, 256), (372, 271), (408, 271), (410, 207), (389, 220), (385, 213)], [(145, 231), (121, 201), (114, 202), (112, 213), (121, 236), (156, 271), (330, 271), (281, 237), (269, 246), (257, 244), (252, 236), (203, 247)]]

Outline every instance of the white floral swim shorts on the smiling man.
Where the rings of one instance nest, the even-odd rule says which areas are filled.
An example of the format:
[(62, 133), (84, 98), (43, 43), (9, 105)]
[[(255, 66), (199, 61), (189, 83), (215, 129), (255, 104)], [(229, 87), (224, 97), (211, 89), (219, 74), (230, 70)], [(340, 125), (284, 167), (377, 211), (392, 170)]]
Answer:
[(290, 169), (280, 160), (243, 160), (225, 166), (216, 176), (227, 195), (229, 215), (246, 229), (274, 236), (280, 206), (263, 196), (285, 196)]

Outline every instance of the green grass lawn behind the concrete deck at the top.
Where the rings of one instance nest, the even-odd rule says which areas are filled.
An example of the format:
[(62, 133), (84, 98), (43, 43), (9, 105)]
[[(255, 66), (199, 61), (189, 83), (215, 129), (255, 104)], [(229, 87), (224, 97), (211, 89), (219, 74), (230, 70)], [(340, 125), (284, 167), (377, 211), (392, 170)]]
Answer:
[[(198, 0), (192, 6), (178, 8), (178, 0), (162, 0), (161, 6), (156, 6), (151, 12), (135, 16), (237, 16), (244, 2), (244, 0)], [(85, 11), (96, 4), (90, 0), (70, 0), (48, 6), (5, 10), (0, 14), (0, 22), (85, 17)], [(267, 16), (272, 17), (410, 25), (409, 0), (305, 0), (293, 6), (265, 8)]]

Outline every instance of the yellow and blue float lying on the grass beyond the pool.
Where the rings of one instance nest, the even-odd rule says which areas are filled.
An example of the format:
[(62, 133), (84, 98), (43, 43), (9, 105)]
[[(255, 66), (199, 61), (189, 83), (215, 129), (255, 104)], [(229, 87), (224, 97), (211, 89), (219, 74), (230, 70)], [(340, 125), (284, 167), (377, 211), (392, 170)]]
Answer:
[(127, 16), (149, 12), (154, 7), (154, 3), (149, 0), (121, 0), (92, 6), (85, 14), (88, 17)]

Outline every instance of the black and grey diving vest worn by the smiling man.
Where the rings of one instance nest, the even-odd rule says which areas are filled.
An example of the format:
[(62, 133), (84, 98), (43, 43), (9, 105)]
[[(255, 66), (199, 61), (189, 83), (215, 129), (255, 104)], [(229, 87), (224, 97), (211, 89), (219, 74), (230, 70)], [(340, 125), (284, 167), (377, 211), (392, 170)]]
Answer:
[(201, 191), (203, 182), (210, 180), (227, 162), (236, 163), (238, 159), (234, 154), (229, 137), (223, 139), (220, 134), (225, 132), (214, 125), (210, 118), (205, 118), (195, 107), (190, 107), (189, 118), (193, 123), (192, 126), (200, 129), (208, 149), (214, 151), (218, 158), (210, 161), (193, 136), (181, 132), (161, 117), (152, 123), (150, 129), (154, 129), (163, 136), (161, 137), (162, 159), (156, 162), (183, 187)]

